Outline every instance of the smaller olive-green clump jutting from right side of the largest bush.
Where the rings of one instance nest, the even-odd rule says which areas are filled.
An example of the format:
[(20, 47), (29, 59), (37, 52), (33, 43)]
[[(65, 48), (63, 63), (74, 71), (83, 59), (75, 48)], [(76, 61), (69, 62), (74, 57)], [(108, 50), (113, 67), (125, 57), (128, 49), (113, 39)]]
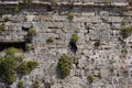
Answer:
[(38, 65), (35, 61), (22, 62), (18, 67), (18, 73), (21, 75), (30, 74)]

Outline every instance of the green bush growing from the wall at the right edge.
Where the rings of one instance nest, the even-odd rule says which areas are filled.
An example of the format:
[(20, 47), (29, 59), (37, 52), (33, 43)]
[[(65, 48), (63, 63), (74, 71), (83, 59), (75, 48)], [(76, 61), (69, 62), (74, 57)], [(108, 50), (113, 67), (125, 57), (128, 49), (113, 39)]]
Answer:
[(121, 34), (122, 34), (123, 38), (129, 37), (131, 35), (131, 33), (132, 33), (132, 26), (124, 26), (121, 30)]

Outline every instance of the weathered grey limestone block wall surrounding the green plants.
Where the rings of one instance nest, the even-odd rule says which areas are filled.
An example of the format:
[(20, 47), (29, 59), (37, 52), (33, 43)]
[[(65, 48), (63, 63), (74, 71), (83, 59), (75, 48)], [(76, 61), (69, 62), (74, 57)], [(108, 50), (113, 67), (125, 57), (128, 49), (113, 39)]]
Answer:
[[(132, 34), (123, 38), (121, 33), (123, 28), (132, 29), (132, 0), (0, 0), (3, 22), (0, 50), (20, 45), (24, 52), (15, 55), (38, 62), (22, 77), (23, 88), (33, 88), (35, 78), (41, 80), (38, 88), (132, 88)], [(29, 37), (29, 29), (35, 29), (36, 35)], [(69, 42), (75, 33), (73, 51)], [(65, 79), (57, 75), (63, 54), (76, 58)], [(18, 88), (18, 81), (19, 77), (10, 88)], [(6, 86), (0, 82), (0, 88)]]

